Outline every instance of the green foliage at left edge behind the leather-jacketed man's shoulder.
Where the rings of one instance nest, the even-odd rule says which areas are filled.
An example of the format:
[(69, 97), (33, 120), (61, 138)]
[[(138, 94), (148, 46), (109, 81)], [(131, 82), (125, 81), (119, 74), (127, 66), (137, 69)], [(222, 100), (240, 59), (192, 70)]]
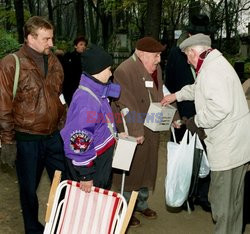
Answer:
[(13, 34), (0, 29), (0, 58), (19, 49), (20, 44)]

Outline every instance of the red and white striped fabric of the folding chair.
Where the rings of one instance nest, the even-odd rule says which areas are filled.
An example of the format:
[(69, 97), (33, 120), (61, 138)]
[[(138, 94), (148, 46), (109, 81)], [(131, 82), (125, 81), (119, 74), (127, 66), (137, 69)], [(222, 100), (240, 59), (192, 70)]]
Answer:
[[(61, 183), (65, 183), (67, 189), (56, 233), (116, 233), (115, 228), (121, 226), (120, 215), (124, 216), (127, 208), (120, 194), (96, 187), (85, 193), (77, 182), (68, 180)], [(125, 211), (120, 212), (124, 208)]]

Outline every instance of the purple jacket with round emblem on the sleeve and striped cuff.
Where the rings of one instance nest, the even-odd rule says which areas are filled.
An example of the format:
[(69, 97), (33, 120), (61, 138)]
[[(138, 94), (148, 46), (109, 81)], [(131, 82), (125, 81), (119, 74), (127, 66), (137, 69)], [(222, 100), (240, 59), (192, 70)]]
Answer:
[(66, 157), (72, 159), (76, 166), (91, 166), (97, 156), (115, 144), (115, 138), (108, 127), (107, 117), (116, 133), (107, 97), (118, 97), (120, 86), (103, 84), (87, 74), (82, 74), (81, 86), (90, 89), (94, 95), (81, 88), (75, 91), (61, 136)]

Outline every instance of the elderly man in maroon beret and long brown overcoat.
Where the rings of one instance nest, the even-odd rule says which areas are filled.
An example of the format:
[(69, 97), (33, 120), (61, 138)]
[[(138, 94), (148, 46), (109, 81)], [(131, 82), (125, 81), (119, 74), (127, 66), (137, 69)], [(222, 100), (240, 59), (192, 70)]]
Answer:
[[(113, 109), (127, 110), (125, 116), (128, 134), (137, 139), (137, 149), (131, 169), (126, 175), (125, 197), (129, 199), (132, 190), (138, 190), (135, 210), (149, 219), (156, 218), (155, 211), (148, 207), (149, 189), (155, 186), (158, 162), (159, 133), (144, 126), (150, 98), (160, 102), (163, 98), (162, 71), (159, 65), (161, 52), (165, 46), (152, 37), (137, 41), (135, 53), (118, 66), (114, 72), (114, 82), (121, 85), (121, 96), (113, 103)], [(132, 118), (131, 118), (132, 117)], [(117, 123), (119, 132), (123, 126)], [(113, 183), (120, 186), (121, 177), (114, 174)], [(130, 226), (138, 226), (140, 221), (133, 215)]]

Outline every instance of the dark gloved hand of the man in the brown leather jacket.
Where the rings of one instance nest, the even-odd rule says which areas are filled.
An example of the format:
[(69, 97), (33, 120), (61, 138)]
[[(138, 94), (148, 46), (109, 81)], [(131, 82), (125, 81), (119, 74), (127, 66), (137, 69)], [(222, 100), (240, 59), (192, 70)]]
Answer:
[(16, 144), (3, 144), (0, 159), (3, 164), (13, 168), (16, 161)]

